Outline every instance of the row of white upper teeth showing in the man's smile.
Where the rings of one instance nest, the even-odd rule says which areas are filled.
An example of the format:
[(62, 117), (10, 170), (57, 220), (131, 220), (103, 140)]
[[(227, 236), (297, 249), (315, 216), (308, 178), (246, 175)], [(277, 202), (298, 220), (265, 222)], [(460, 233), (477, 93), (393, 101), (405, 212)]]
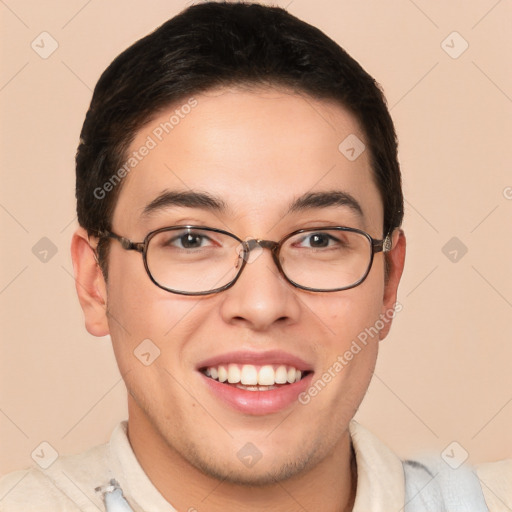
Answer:
[(229, 382), (230, 384), (241, 383), (245, 386), (273, 386), (274, 384), (292, 384), (298, 382), (302, 377), (302, 372), (293, 366), (254, 366), (252, 364), (228, 364), (219, 366), (210, 366), (205, 370), (206, 375), (220, 382)]

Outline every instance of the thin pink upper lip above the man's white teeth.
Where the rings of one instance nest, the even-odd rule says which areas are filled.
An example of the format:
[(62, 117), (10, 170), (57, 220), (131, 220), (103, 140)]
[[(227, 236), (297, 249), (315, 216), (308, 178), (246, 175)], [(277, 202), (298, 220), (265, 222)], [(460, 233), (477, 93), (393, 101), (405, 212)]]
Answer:
[(282, 364), (286, 366), (293, 366), (297, 370), (311, 371), (312, 366), (303, 359), (288, 352), (281, 350), (270, 350), (265, 352), (256, 351), (237, 351), (225, 352), (208, 359), (201, 361), (197, 365), (197, 369), (209, 368), (212, 366), (219, 366), (221, 364), (253, 364), (253, 365), (266, 365), (266, 364)]

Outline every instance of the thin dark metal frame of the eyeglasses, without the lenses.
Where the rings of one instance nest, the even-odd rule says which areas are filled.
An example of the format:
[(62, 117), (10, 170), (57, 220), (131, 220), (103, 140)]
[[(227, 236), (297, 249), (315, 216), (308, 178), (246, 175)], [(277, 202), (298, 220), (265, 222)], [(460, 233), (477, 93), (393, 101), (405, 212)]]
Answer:
[[(147, 262), (147, 250), (149, 247), (149, 242), (158, 233), (162, 233), (164, 231), (175, 231), (175, 230), (179, 230), (179, 229), (200, 229), (203, 231), (211, 231), (214, 233), (221, 233), (221, 234), (227, 235), (227, 236), (235, 239), (237, 242), (239, 242), (243, 248), (243, 256), (242, 256), (242, 264), (240, 265), (240, 268), (239, 268), (236, 276), (229, 283), (227, 283), (219, 288), (215, 288), (213, 290), (209, 290), (206, 292), (185, 292), (185, 291), (181, 291), (181, 290), (173, 290), (172, 288), (167, 288), (167, 287), (161, 285), (160, 283), (158, 283), (155, 280), (155, 278), (153, 277), (153, 275), (151, 274), (151, 271), (149, 270), (149, 266), (148, 266), (148, 262)], [(353, 233), (359, 233), (360, 235), (363, 235), (364, 237), (366, 237), (366, 239), (370, 243), (371, 256), (370, 256), (370, 261), (368, 263), (368, 267), (367, 267), (364, 275), (358, 281), (356, 281), (354, 284), (351, 284), (350, 286), (344, 286), (342, 288), (335, 288), (335, 289), (328, 289), (328, 290), (320, 289), (320, 288), (311, 288), (308, 286), (302, 286), (302, 285), (296, 283), (295, 281), (291, 280), (285, 274), (285, 272), (281, 266), (281, 263), (279, 261), (279, 251), (281, 250), (281, 247), (284, 244), (284, 242), (286, 242), (286, 240), (288, 240), (292, 236), (298, 235), (299, 233), (307, 233), (307, 232), (315, 233), (318, 231), (332, 231), (332, 230), (349, 231), (349, 232), (353, 232)], [(165, 228), (156, 229), (154, 231), (149, 232), (142, 242), (132, 242), (128, 238), (117, 235), (116, 233), (114, 233), (112, 231), (100, 231), (98, 233), (98, 237), (99, 238), (113, 238), (114, 240), (117, 240), (118, 242), (121, 243), (121, 246), (123, 249), (125, 249), (127, 251), (140, 252), (142, 254), (142, 259), (144, 262), (144, 268), (146, 269), (146, 273), (148, 274), (151, 281), (156, 286), (161, 288), (162, 290), (166, 290), (170, 293), (176, 293), (179, 295), (212, 295), (214, 293), (219, 293), (224, 290), (227, 290), (228, 288), (230, 288), (231, 286), (233, 286), (236, 283), (236, 281), (238, 280), (238, 278), (242, 274), (242, 271), (245, 268), (245, 265), (249, 259), (250, 252), (257, 246), (262, 247), (263, 249), (269, 249), (271, 251), (272, 258), (273, 258), (274, 263), (276, 264), (280, 274), (286, 279), (286, 281), (288, 281), (292, 286), (294, 286), (296, 288), (299, 288), (301, 290), (307, 290), (310, 292), (337, 292), (337, 291), (349, 290), (351, 288), (355, 288), (356, 286), (359, 286), (368, 277), (368, 274), (370, 273), (370, 270), (373, 265), (374, 255), (379, 252), (383, 252), (383, 253), (389, 252), (391, 250), (391, 246), (392, 246), (392, 240), (391, 240), (390, 234), (386, 235), (386, 237), (382, 240), (377, 240), (375, 238), (372, 238), (368, 233), (366, 233), (366, 231), (362, 231), (357, 228), (349, 228), (349, 227), (345, 227), (345, 226), (323, 226), (323, 227), (319, 227), (319, 228), (298, 229), (298, 230), (293, 231), (292, 233), (289, 233), (286, 236), (284, 236), (279, 242), (274, 242), (273, 240), (261, 240), (261, 239), (255, 239), (255, 238), (249, 239), (249, 240), (242, 240), (242, 239), (238, 238), (236, 235), (234, 235), (233, 233), (230, 233), (229, 231), (225, 231), (223, 229), (210, 228), (208, 226), (196, 226), (196, 225), (168, 226)]]

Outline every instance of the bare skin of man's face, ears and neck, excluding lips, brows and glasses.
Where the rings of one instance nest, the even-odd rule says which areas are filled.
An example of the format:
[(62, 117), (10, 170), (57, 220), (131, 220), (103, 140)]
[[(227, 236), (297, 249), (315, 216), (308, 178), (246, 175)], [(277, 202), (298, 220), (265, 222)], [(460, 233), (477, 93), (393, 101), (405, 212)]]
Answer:
[[(197, 107), (125, 178), (113, 231), (139, 242), (151, 230), (192, 223), (242, 239), (279, 240), (303, 227), (345, 225), (383, 237), (368, 151), (351, 162), (338, 150), (349, 134), (365, 139), (340, 105), (276, 89), (223, 89), (195, 98)], [(177, 107), (145, 126), (130, 150)], [(143, 208), (164, 190), (206, 191), (227, 209), (174, 207), (143, 220)], [(302, 194), (332, 190), (356, 198), (363, 217), (346, 206), (286, 214)], [(228, 290), (176, 295), (156, 287), (141, 255), (115, 241), (106, 283), (94, 246), (82, 228), (76, 231), (72, 256), (86, 327), (95, 336), (111, 335), (128, 389), (129, 439), (161, 494), (180, 511), (352, 510), (357, 475), (348, 425), (374, 370), (377, 337), (309, 404), (267, 415), (242, 414), (219, 401), (196, 365), (233, 350), (279, 349), (307, 361), (320, 377), (396, 302), (402, 231), (393, 234), (387, 279), (379, 253), (361, 285), (334, 293), (294, 288), (265, 250)], [(144, 366), (133, 352), (147, 338), (161, 353)], [(262, 453), (251, 468), (237, 458), (247, 442)]]

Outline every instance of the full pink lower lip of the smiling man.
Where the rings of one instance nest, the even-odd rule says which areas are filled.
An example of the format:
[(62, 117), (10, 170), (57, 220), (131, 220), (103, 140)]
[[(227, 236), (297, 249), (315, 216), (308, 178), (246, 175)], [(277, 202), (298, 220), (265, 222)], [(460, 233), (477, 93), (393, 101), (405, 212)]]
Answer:
[(282, 411), (297, 402), (298, 395), (311, 385), (313, 373), (306, 375), (299, 382), (268, 391), (247, 391), (233, 385), (222, 384), (202, 373), (201, 376), (212, 393), (233, 409), (245, 414), (263, 415)]

